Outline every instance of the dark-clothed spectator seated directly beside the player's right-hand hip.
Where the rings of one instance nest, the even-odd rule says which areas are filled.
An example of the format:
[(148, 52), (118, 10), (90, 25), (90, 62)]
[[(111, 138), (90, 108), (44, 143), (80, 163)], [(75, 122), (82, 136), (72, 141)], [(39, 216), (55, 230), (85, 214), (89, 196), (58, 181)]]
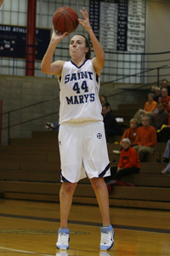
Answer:
[(107, 105), (102, 107), (102, 114), (104, 117), (106, 142), (108, 143), (109, 137), (120, 134), (121, 127), (117, 123), (114, 114), (109, 110)]

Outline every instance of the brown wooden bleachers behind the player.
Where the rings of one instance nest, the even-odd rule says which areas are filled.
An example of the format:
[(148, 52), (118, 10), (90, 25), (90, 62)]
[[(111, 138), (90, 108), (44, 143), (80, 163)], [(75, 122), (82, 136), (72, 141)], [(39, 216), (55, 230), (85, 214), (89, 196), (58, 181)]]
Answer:
[[(141, 105), (144, 106), (144, 102)], [(124, 117), (124, 109), (129, 125), (137, 106), (120, 105), (116, 117)], [(117, 166), (120, 157), (113, 153), (120, 149), (120, 138), (113, 137), (108, 144), (111, 166)], [(139, 174), (123, 177), (123, 181), (133, 183), (134, 187), (113, 186), (111, 207), (170, 209), (170, 176), (161, 175), (166, 164), (156, 162), (157, 158), (162, 159), (165, 147), (166, 143), (157, 143), (156, 153), (141, 163)], [(33, 131), (31, 138), (11, 138), (9, 146), (0, 146), (0, 195), (3, 198), (58, 202), (60, 185), (58, 131)], [(79, 182), (73, 203), (97, 204), (88, 178)]]

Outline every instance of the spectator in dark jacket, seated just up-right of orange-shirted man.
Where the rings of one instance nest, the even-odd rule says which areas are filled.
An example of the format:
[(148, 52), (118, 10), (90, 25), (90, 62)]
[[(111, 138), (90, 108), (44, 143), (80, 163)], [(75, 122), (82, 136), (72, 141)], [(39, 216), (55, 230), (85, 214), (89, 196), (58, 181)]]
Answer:
[(169, 114), (163, 107), (162, 102), (157, 103), (157, 109), (158, 113), (156, 113), (153, 123), (153, 127), (156, 129), (156, 131), (160, 130), (162, 125), (167, 125), (169, 119)]

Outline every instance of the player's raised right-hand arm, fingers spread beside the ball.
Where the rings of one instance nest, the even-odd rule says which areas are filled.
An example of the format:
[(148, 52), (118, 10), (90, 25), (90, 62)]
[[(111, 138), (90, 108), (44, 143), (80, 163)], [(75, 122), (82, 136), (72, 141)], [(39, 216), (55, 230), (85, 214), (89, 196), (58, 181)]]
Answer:
[(92, 63), (94, 65), (94, 69), (96, 73), (100, 76), (100, 72), (105, 64), (105, 52), (101, 44), (99, 44), (98, 39), (94, 35), (92, 27), (90, 26), (87, 10), (83, 8), (83, 10), (81, 10), (80, 12), (84, 20), (82, 19), (78, 19), (78, 20), (79, 20), (79, 23), (82, 25), (82, 27), (88, 32), (89, 37), (92, 41), (92, 44), (94, 47), (94, 53), (95, 53), (95, 57), (92, 59)]

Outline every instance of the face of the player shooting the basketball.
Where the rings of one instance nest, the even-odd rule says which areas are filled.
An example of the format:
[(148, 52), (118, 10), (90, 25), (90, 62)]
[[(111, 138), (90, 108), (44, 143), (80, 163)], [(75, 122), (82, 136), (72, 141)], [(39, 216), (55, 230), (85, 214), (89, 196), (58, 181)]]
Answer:
[(80, 35), (76, 35), (73, 38), (71, 38), (69, 49), (71, 57), (85, 56), (88, 52), (85, 38), (83, 38)]

